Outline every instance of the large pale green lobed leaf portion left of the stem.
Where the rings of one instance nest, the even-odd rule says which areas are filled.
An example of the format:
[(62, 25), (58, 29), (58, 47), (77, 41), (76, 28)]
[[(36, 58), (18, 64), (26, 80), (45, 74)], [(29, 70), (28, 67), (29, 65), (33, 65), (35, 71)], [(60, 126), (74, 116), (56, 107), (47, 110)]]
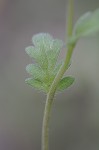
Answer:
[(26, 79), (26, 83), (48, 92), (62, 65), (62, 62), (58, 63), (57, 59), (63, 42), (53, 39), (46, 33), (34, 35), (32, 41), (34, 46), (27, 47), (26, 53), (35, 60), (35, 63), (26, 67), (26, 71), (31, 75), (31, 78)]

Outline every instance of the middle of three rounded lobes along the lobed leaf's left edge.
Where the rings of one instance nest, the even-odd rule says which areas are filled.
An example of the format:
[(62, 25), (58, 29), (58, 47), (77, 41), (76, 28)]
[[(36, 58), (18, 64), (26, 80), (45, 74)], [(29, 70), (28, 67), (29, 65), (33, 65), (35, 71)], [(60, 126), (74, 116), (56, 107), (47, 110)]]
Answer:
[(33, 76), (35, 79), (39, 79), (40, 81), (44, 81), (46, 74), (44, 71), (37, 66), (36, 64), (29, 64), (26, 66), (26, 71)]

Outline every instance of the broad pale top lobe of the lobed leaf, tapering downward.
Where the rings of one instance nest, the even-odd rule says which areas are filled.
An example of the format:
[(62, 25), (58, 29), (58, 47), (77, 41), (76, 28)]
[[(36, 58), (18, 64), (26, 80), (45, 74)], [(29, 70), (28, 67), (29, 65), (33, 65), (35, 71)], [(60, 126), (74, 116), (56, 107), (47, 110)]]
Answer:
[(58, 39), (53, 39), (48, 33), (40, 33), (32, 38), (36, 49), (39, 49), (42, 68), (51, 70), (54, 68), (63, 42)]

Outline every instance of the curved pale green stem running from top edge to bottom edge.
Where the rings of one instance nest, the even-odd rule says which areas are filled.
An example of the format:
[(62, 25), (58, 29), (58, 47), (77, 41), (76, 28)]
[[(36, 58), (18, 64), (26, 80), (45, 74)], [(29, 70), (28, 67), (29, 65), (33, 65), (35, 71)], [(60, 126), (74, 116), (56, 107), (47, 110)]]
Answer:
[[(68, 11), (68, 37), (72, 35), (72, 20), (73, 20), (73, 0), (69, 0), (69, 11)], [(47, 94), (46, 104), (45, 104), (45, 110), (44, 110), (44, 117), (43, 117), (43, 125), (42, 125), (42, 150), (49, 150), (49, 120), (50, 120), (50, 112), (51, 107), (54, 99), (54, 95), (56, 92), (57, 85), (60, 81), (60, 79), (63, 77), (64, 73), (68, 69), (68, 65), (70, 63), (70, 59), (73, 53), (73, 49), (75, 47), (75, 44), (68, 45), (68, 51), (66, 54), (66, 58), (64, 61), (64, 64), (60, 68), (58, 74), (56, 75), (51, 88), (49, 90), (49, 93)]]

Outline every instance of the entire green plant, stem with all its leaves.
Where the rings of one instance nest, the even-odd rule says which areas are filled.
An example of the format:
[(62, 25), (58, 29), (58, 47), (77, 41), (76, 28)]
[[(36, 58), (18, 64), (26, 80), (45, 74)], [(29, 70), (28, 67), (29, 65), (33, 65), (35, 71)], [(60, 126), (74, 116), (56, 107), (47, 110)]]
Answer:
[(66, 45), (67, 56), (64, 62), (57, 62), (60, 50), (63, 47), (63, 42), (58, 39), (53, 39), (53, 37), (47, 33), (34, 35), (32, 38), (34, 46), (26, 48), (26, 53), (34, 59), (35, 63), (27, 65), (26, 71), (31, 75), (31, 78), (27, 78), (25, 82), (33, 88), (42, 90), (46, 93), (49, 92), (43, 119), (42, 150), (49, 149), (48, 125), (54, 94), (56, 91), (60, 92), (67, 89), (74, 82), (73, 77), (63, 77), (63, 75), (70, 66), (73, 49), (75, 48), (77, 40), (80, 37), (90, 36), (99, 31), (99, 9), (94, 12), (88, 12), (80, 17), (73, 29), (72, 6), (73, 0), (69, 0), (70, 16), (68, 17), (70, 18), (68, 20), (68, 41)]

